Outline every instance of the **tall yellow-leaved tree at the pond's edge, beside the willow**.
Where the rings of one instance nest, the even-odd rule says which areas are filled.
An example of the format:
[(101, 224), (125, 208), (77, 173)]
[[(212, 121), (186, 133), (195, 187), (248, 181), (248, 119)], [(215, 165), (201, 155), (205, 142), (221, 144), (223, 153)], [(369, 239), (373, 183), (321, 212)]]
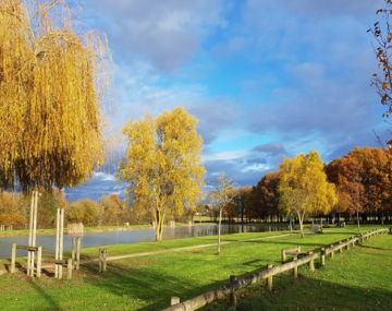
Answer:
[(164, 217), (193, 210), (201, 195), (205, 168), (200, 163), (203, 140), (197, 120), (183, 108), (154, 118), (130, 121), (124, 128), (128, 146), (117, 174), (130, 182), (134, 201), (148, 203), (162, 239)]

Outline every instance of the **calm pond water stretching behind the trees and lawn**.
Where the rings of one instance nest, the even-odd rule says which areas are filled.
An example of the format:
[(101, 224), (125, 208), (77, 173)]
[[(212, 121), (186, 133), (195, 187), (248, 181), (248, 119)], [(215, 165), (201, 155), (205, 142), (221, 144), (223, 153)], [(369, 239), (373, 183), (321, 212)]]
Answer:
[[(221, 234), (238, 234), (238, 232), (264, 232), (270, 229), (277, 230), (275, 226), (266, 225), (222, 225)], [(201, 225), (189, 227), (164, 228), (163, 240), (217, 236), (217, 225)], [(128, 244), (138, 242), (155, 241), (155, 229), (128, 230), (128, 231), (110, 231), (85, 234), (82, 236), (82, 248), (93, 248), (110, 244)], [(11, 258), (12, 243), (27, 246), (27, 236), (21, 237), (0, 237), (0, 259)], [(37, 236), (37, 246), (42, 246), (47, 252), (54, 252), (56, 236)], [(64, 251), (70, 251), (72, 247), (72, 236), (64, 235)], [(26, 250), (17, 250), (16, 256), (25, 256)]]

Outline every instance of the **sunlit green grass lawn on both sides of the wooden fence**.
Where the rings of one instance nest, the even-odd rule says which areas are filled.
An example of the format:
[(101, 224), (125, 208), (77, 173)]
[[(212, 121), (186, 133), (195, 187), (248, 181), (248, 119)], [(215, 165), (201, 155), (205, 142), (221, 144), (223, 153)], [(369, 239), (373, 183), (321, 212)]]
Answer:
[[(318, 250), (358, 231), (346, 227), (326, 229), (323, 235), (305, 239), (295, 235), (250, 240), (277, 234), (282, 232), (224, 236), (223, 240), (232, 243), (222, 247), (221, 255), (216, 254), (216, 247), (209, 247), (113, 261), (103, 275), (97, 274), (97, 263), (90, 263), (71, 282), (48, 276), (30, 282), (22, 273), (1, 276), (0, 310), (160, 310), (169, 306), (171, 296), (185, 300), (225, 284), (231, 274), (241, 277), (268, 263), (278, 265), (283, 248), (301, 244), (304, 251)], [(212, 242), (216, 237), (111, 246), (108, 251), (114, 255)], [(87, 249), (83, 254), (94, 256), (97, 250)], [(392, 236), (376, 237), (328, 259), (326, 267), (315, 273), (299, 268), (296, 282), (291, 275), (277, 277), (273, 294), (260, 289), (260, 285), (238, 292), (244, 296), (240, 310), (260, 310), (260, 306), (266, 310), (297, 310), (298, 306), (299, 310), (367, 310), (369, 306), (371, 310), (391, 310), (391, 255)], [(205, 310), (226, 310), (225, 303), (222, 300)]]

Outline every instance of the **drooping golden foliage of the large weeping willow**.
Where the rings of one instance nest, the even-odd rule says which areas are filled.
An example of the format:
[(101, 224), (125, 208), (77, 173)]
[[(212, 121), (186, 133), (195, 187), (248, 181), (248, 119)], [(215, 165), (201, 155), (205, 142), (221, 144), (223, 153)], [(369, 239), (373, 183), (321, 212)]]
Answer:
[(0, 182), (74, 187), (105, 160), (110, 53), (64, 1), (0, 1)]

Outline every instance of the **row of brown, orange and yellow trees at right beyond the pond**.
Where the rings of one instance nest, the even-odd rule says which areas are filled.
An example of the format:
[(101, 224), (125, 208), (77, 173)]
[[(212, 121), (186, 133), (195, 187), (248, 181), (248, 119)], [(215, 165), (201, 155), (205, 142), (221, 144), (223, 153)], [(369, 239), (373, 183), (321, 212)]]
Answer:
[[(211, 201), (212, 202), (212, 201)], [(297, 207), (295, 207), (297, 206)], [(211, 216), (217, 215), (210, 208)], [(354, 217), (359, 222), (392, 216), (392, 154), (384, 148), (355, 148), (324, 165), (311, 151), (284, 158), (279, 169), (257, 186), (240, 188), (223, 217), (286, 220), (308, 216)]]

